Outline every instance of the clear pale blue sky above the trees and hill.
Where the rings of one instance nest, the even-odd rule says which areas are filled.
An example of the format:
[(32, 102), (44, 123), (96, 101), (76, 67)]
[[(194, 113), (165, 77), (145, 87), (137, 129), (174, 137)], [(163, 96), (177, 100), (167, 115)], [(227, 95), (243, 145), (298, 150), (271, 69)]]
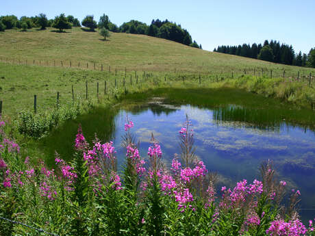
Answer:
[(279, 40), (292, 44), (296, 52), (308, 53), (315, 47), (314, 0), (222, 0), (222, 1), (87, 1), (87, 0), (8, 0), (1, 2), (0, 15), (48, 18), (71, 14), (81, 21), (87, 14), (95, 20), (103, 13), (121, 25), (135, 19), (150, 24), (153, 18), (180, 23), (192, 39), (212, 51), (218, 45), (252, 44)]

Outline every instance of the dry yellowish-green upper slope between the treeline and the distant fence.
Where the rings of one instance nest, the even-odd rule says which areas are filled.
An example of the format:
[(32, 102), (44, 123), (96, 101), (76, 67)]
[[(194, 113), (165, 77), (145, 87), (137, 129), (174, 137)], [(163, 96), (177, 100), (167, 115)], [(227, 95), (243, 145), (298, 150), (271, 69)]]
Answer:
[(112, 33), (112, 36), (103, 41), (97, 31), (88, 32), (81, 28), (66, 30), (66, 33), (56, 33), (50, 28), (45, 31), (31, 29), (27, 32), (7, 30), (0, 34), (0, 55), (3, 61), (25, 64), (70, 66), (81, 68), (111, 70), (144, 70), (167, 71), (183, 73), (234, 73), (243, 72), (259, 75), (262, 68), (264, 73), (273, 70), (273, 77), (283, 75), (309, 75), (315, 70), (273, 64), (247, 57), (238, 57), (223, 53), (213, 53), (184, 44), (153, 38), (144, 35)]

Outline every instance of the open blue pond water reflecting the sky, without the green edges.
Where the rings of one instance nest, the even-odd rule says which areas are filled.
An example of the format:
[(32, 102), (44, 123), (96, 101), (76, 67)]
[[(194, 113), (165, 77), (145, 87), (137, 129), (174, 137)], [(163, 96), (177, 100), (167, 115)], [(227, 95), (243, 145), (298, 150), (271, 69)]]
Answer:
[[(121, 111), (116, 117), (118, 164), (123, 163), (120, 147), (126, 114), (134, 121), (132, 133), (140, 140), (140, 153), (147, 156), (153, 133), (163, 151), (166, 163), (179, 153), (179, 129), (186, 114), (192, 120), (197, 156), (208, 170), (220, 174), (220, 185), (234, 185), (236, 181), (259, 177), (259, 166), (272, 159), (281, 179), (288, 186), (301, 189), (303, 207), (315, 207), (315, 135), (310, 130), (281, 124), (277, 131), (255, 129), (244, 122), (220, 121), (210, 109), (181, 106), (171, 113), (156, 113), (151, 109), (131, 113)], [(303, 213), (305, 214), (305, 213)], [(312, 211), (315, 215), (315, 211)]]

